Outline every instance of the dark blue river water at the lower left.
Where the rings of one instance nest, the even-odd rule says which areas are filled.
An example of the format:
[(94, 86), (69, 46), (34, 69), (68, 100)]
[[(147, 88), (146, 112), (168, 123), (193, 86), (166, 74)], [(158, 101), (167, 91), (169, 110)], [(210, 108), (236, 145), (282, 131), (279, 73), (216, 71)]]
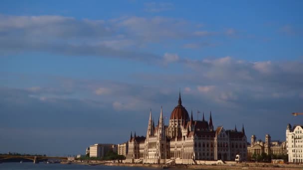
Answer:
[[(111, 167), (66, 164), (2, 163), (0, 170), (162, 170), (142, 167)], [(180, 169), (178, 169), (180, 170)]]

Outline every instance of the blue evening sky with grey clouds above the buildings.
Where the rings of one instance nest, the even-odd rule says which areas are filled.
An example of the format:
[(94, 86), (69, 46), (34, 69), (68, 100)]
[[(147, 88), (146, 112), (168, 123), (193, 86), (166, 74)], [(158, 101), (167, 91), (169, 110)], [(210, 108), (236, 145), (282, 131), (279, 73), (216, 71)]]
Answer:
[(303, 112), (302, 5), (1, 1), (0, 152), (75, 155), (145, 135), (150, 108), (169, 117), (179, 88), (215, 126), (285, 140), (303, 121), (291, 115)]

